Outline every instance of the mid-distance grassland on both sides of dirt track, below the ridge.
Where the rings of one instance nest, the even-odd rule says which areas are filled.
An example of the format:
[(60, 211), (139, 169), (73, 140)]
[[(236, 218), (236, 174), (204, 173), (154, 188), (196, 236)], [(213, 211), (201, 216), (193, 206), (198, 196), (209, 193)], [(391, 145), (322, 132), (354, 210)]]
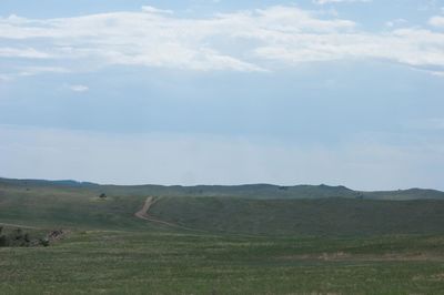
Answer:
[[(134, 218), (147, 195), (78, 186), (0, 185), (0, 222), (34, 226), (148, 230)], [(444, 234), (444, 201), (349, 197), (154, 196), (150, 214), (212, 233), (264, 235)]]

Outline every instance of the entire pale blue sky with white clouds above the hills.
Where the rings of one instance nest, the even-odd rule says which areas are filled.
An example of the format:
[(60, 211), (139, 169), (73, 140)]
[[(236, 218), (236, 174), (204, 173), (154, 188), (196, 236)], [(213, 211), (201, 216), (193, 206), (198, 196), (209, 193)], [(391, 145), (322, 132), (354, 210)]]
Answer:
[(1, 1), (2, 177), (443, 175), (444, 0)]

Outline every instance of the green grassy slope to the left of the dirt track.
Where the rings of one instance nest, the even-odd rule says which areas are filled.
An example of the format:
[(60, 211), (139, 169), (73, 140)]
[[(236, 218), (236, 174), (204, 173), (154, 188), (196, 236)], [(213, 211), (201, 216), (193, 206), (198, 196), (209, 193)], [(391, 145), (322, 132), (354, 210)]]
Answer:
[(109, 196), (84, 190), (8, 187), (0, 190), (0, 221), (51, 227), (143, 228), (133, 217), (144, 196)]

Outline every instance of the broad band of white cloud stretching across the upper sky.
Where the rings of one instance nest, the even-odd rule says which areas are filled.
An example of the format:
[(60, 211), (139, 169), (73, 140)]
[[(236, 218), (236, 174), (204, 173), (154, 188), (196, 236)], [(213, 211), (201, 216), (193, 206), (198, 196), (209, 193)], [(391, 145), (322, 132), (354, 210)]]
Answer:
[(84, 64), (266, 71), (281, 64), (363, 59), (444, 67), (444, 33), (421, 28), (365, 32), (350, 20), (282, 6), (205, 19), (170, 12), (144, 7), (141, 12), (77, 18), (0, 19), (0, 38), (20, 44), (20, 50), (0, 49), (0, 55), (52, 58), (73, 71)]

